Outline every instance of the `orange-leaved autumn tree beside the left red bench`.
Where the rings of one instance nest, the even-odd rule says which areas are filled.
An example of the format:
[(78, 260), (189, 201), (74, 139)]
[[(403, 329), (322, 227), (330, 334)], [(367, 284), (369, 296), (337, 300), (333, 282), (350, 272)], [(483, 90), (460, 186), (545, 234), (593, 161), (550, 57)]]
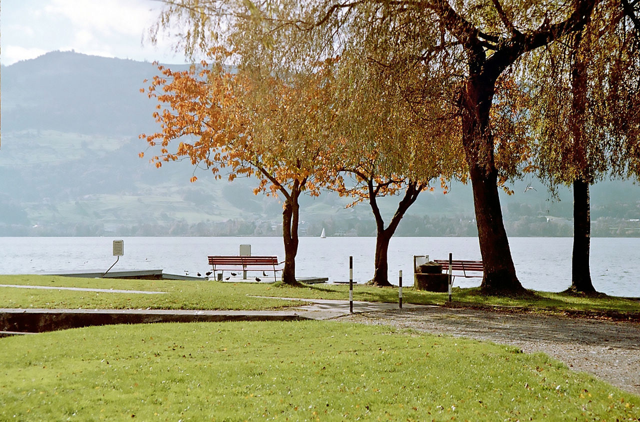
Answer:
[[(282, 233), (285, 261), (282, 280), (296, 281), (299, 198), (318, 195), (314, 174), (328, 147), (314, 130), (330, 116), (323, 113), (328, 84), (324, 70), (290, 76), (287, 81), (260, 69), (233, 74), (217, 65), (202, 63), (199, 72), (172, 72), (160, 67), (147, 88), (160, 102), (154, 116), (162, 130), (142, 134), (160, 153), (157, 166), (188, 158), (193, 165), (211, 169), (217, 178), (227, 172), (229, 181), (255, 176), (254, 193), (278, 195), (283, 200)], [(162, 106), (164, 105), (164, 108)], [(195, 181), (192, 177), (191, 181)]]

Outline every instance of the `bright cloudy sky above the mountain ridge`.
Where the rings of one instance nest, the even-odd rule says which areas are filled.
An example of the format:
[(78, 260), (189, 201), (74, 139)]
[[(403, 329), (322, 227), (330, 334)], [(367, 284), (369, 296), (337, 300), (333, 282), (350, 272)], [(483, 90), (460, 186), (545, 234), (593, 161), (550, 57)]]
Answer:
[[(0, 62), (36, 58), (48, 51), (162, 63), (184, 63), (171, 41), (145, 39), (162, 4), (155, 0), (2, 0)], [(143, 44), (143, 45), (142, 45)]]

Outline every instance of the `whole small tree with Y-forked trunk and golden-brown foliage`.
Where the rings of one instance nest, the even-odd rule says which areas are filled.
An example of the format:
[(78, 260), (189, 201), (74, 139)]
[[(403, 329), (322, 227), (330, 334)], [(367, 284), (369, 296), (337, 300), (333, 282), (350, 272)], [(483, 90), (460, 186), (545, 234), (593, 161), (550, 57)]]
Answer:
[[(369, 202), (376, 222), (374, 275), (369, 284), (391, 286), (388, 246), (404, 214), (421, 191), (433, 190), (429, 183), (440, 175), (463, 178), (464, 165), (458, 133), (451, 124), (442, 124), (446, 121), (442, 116), (435, 116), (433, 98), (411, 101), (399, 95), (401, 87), (392, 74), (409, 77), (412, 70), (406, 63), (378, 71), (363, 56), (362, 52), (343, 55), (338, 63), (333, 133), (340, 142), (340, 155), (331, 157), (327, 167), (333, 171), (325, 175), (324, 184), (341, 196), (355, 198), (350, 206)], [(385, 226), (378, 198), (397, 194), (401, 200)]]

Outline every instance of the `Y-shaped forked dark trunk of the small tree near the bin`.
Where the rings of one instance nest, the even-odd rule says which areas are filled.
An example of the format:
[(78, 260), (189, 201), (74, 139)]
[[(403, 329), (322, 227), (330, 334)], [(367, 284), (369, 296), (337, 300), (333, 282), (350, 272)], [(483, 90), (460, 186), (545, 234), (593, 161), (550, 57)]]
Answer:
[(381, 287), (392, 286), (388, 279), (389, 265), (387, 254), (389, 241), (394, 236), (394, 233), (396, 232), (404, 213), (406, 213), (406, 210), (412, 206), (416, 199), (418, 199), (418, 195), (420, 191), (422, 191), (422, 188), (422, 185), (409, 181), (406, 189), (404, 190), (404, 197), (399, 202), (396, 213), (391, 218), (388, 227), (385, 229), (385, 222), (382, 218), (380, 208), (378, 208), (378, 202), (376, 200), (378, 189), (373, 187), (373, 181), (372, 179), (369, 179), (369, 204), (371, 204), (371, 210), (373, 211), (373, 215), (376, 219), (376, 256), (374, 259), (375, 272), (373, 274), (373, 279), (371, 279), (367, 284)]

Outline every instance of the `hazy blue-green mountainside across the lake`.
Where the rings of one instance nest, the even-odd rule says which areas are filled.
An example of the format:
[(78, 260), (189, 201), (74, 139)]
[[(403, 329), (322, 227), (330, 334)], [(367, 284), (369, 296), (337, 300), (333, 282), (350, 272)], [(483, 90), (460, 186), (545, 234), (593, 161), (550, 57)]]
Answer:
[[(172, 70), (186, 65), (166, 65)], [(214, 181), (186, 162), (157, 169), (138, 153), (140, 133), (156, 131), (156, 101), (140, 93), (158, 74), (152, 63), (55, 51), (1, 67), (0, 235), (275, 235), (282, 206), (255, 196), (255, 180)], [(198, 181), (189, 183), (191, 175)], [(536, 190), (524, 192), (531, 183)], [(549, 200), (535, 179), (502, 196), (506, 226), (515, 236), (572, 234), (572, 199)], [(640, 235), (640, 189), (607, 181), (592, 190), (594, 232)], [(390, 218), (399, 197), (382, 200)], [(375, 231), (365, 203), (344, 209), (335, 193), (301, 201), (301, 233), (319, 236)], [(398, 234), (476, 234), (470, 186), (454, 184), (421, 195)]]

